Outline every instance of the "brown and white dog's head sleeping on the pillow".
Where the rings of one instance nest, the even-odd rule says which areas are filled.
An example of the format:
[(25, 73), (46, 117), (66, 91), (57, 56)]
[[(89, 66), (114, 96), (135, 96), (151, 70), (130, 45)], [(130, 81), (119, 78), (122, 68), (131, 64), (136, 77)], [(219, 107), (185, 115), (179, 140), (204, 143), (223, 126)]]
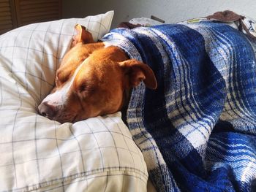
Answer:
[(75, 29), (72, 48), (56, 72), (56, 85), (39, 104), (41, 115), (74, 123), (121, 110), (127, 90), (141, 81), (148, 88), (157, 88), (149, 66), (129, 59), (119, 47), (94, 42), (83, 26)]

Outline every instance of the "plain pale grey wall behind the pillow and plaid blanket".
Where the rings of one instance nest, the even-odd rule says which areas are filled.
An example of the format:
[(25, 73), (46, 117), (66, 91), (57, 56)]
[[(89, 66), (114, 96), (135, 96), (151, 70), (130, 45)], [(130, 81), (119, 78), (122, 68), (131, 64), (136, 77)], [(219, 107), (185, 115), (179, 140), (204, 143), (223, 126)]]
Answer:
[(64, 18), (96, 15), (112, 9), (115, 11), (112, 28), (132, 18), (154, 15), (165, 23), (176, 23), (226, 9), (256, 20), (255, 0), (63, 0)]

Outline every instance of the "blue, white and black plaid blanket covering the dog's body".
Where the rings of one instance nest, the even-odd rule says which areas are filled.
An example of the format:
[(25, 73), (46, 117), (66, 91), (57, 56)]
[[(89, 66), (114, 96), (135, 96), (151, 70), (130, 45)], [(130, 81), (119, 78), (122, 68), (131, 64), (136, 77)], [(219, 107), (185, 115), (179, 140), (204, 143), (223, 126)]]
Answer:
[(157, 191), (256, 191), (256, 61), (222, 23), (117, 28), (104, 41), (151, 66), (127, 122)]

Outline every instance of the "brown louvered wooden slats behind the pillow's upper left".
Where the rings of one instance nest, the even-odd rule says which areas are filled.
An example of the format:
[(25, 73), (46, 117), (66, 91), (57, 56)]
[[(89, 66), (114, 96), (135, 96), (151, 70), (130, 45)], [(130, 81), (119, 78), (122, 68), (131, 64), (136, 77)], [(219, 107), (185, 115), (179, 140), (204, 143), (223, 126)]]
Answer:
[(61, 18), (61, 0), (0, 0), (0, 34), (18, 26)]

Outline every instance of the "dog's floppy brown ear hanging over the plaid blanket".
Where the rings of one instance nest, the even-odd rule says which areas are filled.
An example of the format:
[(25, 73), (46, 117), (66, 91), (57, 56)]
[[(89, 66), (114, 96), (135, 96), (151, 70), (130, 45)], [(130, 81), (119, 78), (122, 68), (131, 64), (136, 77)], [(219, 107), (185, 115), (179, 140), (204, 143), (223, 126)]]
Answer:
[(152, 69), (136, 59), (129, 59), (119, 63), (124, 74), (129, 78), (129, 87), (136, 87), (143, 81), (147, 88), (156, 89), (157, 80)]

